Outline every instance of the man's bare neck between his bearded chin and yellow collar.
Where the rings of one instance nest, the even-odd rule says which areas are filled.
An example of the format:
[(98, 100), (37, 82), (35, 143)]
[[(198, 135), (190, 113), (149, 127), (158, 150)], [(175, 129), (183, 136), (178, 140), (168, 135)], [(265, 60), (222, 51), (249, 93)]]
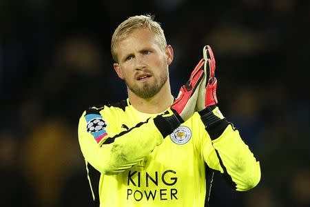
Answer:
[(156, 95), (149, 99), (138, 97), (130, 89), (128, 89), (128, 98), (136, 110), (147, 114), (158, 114), (165, 111), (174, 100), (170, 90), (169, 81), (165, 83), (163, 88), (161, 88)]

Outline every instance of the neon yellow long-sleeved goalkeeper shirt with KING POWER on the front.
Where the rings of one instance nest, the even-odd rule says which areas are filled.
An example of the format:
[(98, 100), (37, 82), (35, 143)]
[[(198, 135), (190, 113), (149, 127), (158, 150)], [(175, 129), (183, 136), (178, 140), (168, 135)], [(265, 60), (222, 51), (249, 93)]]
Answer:
[(240, 191), (260, 181), (259, 162), (230, 124), (211, 140), (195, 112), (163, 137), (156, 116), (128, 99), (83, 112), (79, 144), (85, 161), (101, 172), (101, 206), (202, 207), (214, 171)]

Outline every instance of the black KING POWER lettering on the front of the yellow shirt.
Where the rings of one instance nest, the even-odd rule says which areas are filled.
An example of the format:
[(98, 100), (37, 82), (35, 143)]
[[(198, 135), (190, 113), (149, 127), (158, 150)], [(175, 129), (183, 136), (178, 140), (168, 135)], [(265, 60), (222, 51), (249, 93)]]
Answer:
[[(173, 186), (178, 181), (174, 170), (155, 171), (153, 175), (148, 172), (138, 172), (129, 170), (127, 177), (127, 200), (172, 200), (178, 199), (178, 190)], [(161, 188), (158, 187), (161, 185)]]

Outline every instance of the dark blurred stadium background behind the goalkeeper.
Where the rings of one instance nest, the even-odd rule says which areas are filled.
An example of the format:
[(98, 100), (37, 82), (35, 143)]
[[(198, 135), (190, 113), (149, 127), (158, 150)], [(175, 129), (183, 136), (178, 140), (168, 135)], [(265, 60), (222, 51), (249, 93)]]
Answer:
[(260, 161), (260, 184), (246, 193), (216, 175), (211, 206), (310, 206), (309, 5), (0, 0), (1, 206), (99, 206), (77, 124), (89, 106), (127, 97), (110, 41), (136, 14), (154, 14), (174, 48), (174, 95), (213, 48), (218, 106)]

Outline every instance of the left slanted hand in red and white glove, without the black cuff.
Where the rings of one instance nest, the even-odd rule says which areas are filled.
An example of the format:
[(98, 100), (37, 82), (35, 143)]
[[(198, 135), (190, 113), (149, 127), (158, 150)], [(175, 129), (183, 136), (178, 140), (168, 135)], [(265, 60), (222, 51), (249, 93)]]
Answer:
[(182, 118), (181, 122), (192, 117), (195, 112), (198, 92), (201, 88), (200, 85), (203, 83), (203, 79), (205, 79), (204, 64), (205, 60), (201, 59), (193, 70), (187, 83), (180, 88), (178, 97), (170, 106), (174, 114)]

